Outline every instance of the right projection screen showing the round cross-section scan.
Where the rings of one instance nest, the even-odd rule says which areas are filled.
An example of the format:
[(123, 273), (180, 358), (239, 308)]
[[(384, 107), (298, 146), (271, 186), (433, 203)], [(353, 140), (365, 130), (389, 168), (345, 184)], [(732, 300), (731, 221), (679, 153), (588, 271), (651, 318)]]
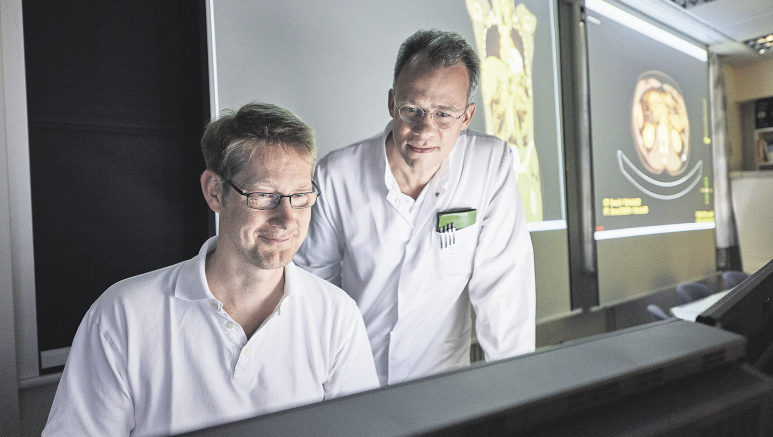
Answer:
[(594, 237), (714, 228), (706, 51), (622, 9), (593, 5)]

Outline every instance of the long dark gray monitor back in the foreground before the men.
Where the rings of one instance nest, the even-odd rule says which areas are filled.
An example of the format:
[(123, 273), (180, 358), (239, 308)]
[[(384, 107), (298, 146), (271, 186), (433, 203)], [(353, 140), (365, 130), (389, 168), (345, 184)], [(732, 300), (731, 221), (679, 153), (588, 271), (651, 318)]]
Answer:
[(745, 343), (669, 319), (186, 435), (773, 435)]

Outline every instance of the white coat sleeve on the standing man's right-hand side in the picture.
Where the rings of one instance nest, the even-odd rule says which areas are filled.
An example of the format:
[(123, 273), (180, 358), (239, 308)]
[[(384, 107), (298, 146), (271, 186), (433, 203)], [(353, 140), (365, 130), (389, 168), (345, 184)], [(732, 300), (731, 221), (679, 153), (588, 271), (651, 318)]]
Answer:
[(534, 253), (526, 228), (510, 147), (492, 154), (473, 272), (468, 283), (475, 329), (486, 361), (534, 351), (536, 289)]

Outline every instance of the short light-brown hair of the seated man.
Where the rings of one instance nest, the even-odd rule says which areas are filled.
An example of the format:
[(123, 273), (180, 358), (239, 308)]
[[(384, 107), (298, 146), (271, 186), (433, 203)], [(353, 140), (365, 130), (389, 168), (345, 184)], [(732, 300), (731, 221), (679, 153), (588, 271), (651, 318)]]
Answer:
[(225, 179), (239, 173), (263, 145), (295, 150), (308, 159), (314, 172), (317, 146), (311, 127), (270, 103), (248, 103), (237, 112), (223, 111), (207, 124), (201, 138), (207, 168)]

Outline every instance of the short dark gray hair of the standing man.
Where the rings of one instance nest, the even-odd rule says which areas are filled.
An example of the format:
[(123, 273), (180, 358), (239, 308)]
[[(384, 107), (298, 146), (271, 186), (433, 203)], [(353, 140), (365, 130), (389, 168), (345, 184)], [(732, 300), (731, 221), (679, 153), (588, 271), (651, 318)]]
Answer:
[(405, 64), (418, 54), (424, 54), (427, 62), (435, 68), (450, 67), (457, 62), (463, 62), (470, 79), (467, 104), (472, 103), (472, 95), (478, 89), (480, 81), (480, 58), (467, 41), (456, 32), (419, 30), (409, 36), (397, 52), (392, 89), (397, 85), (397, 76), (400, 75)]

